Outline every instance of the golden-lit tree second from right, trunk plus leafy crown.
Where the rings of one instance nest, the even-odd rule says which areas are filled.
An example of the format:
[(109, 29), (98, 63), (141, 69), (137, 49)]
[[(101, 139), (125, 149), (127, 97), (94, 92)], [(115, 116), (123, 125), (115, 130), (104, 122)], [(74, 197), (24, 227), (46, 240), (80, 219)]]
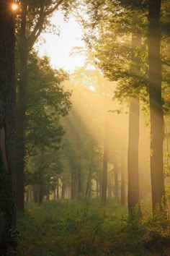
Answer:
[[(122, 1), (90, 2), (92, 12), (91, 38), (87, 38), (96, 51), (97, 62), (104, 75), (117, 81), (115, 99), (130, 101), (128, 142), (128, 206), (133, 212), (139, 202), (138, 140), (139, 140), (139, 93), (146, 84), (140, 72), (142, 61), (140, 11), (130, 10)], [(98, 9), (95, 8), (98, 6)], [(114, 17), (114, 18), (113, 18)], [(121, 26), (119, 25), (121, 24)], [(93, 33), (94, 30), (94, 33)], [(132, 40), (131, 40), (132, 37)], [(114, 40), (113, 40), (114, 38)], [(116, 182), (117, 184), (117, 182)]]

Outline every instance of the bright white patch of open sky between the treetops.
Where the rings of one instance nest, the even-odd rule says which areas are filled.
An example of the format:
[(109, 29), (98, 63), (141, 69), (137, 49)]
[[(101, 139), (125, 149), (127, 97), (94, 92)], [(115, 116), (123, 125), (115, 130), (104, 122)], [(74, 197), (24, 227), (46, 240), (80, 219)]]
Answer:
[[(76, 55), (69, 56), (71, 50), (75, 46), (84, 47), (81, 27), (73, 17), (68, 22), (64, 21), (61, 12), (55, 12), (51, 21), (57, 25), (61, 33), (60, 35), (53, 35), (53, 33), (42, 33), (40, 36), (40, 43), (36, 43), (35, 48), (39, 51), (39, 55), (47, 55), (53, 67), (66, 69), (72, 72), (76, 67), (81, 67), (84, 64), (84, 56)], [(45, 40), (45, 43), (42, 43)]]

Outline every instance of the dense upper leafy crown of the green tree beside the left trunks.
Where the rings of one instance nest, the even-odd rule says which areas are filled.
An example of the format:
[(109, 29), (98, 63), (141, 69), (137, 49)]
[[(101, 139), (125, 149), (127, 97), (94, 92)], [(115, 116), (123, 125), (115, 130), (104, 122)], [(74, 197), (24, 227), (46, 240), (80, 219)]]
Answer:
[(32, 53), (28, 72), (26, 147), (27, 154), (34, 155), (36, 150), (60, 147), (64, 134), (60, 117), (71, 108), (71, 93), (62, 85), (68, 74), (50, 67), (47, 57), (40, 59)]

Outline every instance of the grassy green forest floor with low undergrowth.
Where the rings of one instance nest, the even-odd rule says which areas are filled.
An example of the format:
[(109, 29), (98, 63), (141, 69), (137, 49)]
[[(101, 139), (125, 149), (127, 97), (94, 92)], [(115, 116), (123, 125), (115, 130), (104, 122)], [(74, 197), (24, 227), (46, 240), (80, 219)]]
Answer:
[(169, 220), (160, 213), (129, 220), (127, 209), (113, 203), (28, 204), (17, 228), (17, 256), (170, 256)]

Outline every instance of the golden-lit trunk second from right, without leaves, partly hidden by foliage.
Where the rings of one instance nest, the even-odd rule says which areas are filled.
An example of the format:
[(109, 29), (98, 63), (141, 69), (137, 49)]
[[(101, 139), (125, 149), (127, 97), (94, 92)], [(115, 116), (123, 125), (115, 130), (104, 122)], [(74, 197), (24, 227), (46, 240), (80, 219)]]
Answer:
[[(135, 49), (141, 47), (141, 32), (136, 24), (140, 19), (133, 14), (133, 35), (132, 35), (132, 66), (135, 75), (140, 74), (140, 58), (135, 56)], [(138, 77), (135, 78), (138, 83)], [(136, 92), (138, 94), (138, 92)], [(128, 212), (133, 216), (135, 206), (139, 202), (139, 177), (138, 177), (138, 145), (139, 145), (139, 115), (140, 99), (139, 96), (130, 98), (129, 107), (129, 141), (128, 141)]]

